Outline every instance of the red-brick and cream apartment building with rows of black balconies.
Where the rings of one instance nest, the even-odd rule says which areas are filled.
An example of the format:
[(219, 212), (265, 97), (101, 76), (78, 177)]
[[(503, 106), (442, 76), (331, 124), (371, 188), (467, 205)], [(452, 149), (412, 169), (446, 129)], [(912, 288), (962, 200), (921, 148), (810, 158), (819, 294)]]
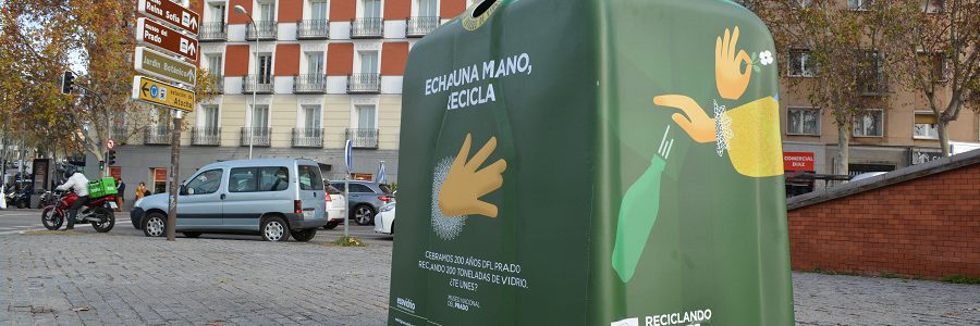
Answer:
[[(198, 0), (200, 67), (218, 91), (185, 115), (181, 176), (216, 160), (302, 156), (324, 175), (397, 181), (402, 74), (408, 50), (471, 0)], [(235, 7), (246, 13), (238, 13)], [(117, 139), (112, 173), (167, 186), (170, 126)], [(117, 133), (122, 135), (124, 133)], [(119, 136), (117, 136), (119, 137)], [(249, 147), (250, 145), (250, 147)], [(93, 164), (89, 164), (93, 165)], [(94, 167), (89, 167), (90, 170)], [(329, 171), (327, 171), (329, 170)], [(93, 170), (94, 172), (94, 170)]]

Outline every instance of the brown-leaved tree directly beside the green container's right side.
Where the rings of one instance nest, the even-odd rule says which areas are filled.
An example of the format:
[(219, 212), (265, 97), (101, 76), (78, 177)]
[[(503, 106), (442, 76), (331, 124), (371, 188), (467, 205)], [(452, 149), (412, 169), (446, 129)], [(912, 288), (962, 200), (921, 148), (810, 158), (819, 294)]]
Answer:
[(781, 65), (794, 65), (806, 55), (814, 67), (809, 78), (783, 78), (791, 88), (804, 90), (812, 105), (830, 110), (837, 127), (834, 171), (846, 175), (855, 117), (861, 117), (865, 108), (889, 104), (882, 96), (893, 65), (880, 45), (894, 29), (887, 21), (894, 10), (887, 1), (865, 1), (860, 10), (833, 0), (751, 2), (781, 49)]

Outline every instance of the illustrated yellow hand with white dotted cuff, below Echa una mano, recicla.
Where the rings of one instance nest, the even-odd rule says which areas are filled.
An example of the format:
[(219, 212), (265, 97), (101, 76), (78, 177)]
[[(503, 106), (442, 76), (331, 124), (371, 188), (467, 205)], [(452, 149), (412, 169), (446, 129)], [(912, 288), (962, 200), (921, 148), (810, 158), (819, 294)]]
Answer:
[(497, 205), (479, 198), (503, 186), (502, 174), (507, 168), (507, 162), (503, 159), (497, 160), (493, 164), (477, 171), (497, 148), (497, 137), (491, 137), (467, 162), (469, 145), (470, 135), (467, 134), (463, 148), (460, 149), (439, 190), (439, 210), (443, 216), (479, 214), (497, 217)]

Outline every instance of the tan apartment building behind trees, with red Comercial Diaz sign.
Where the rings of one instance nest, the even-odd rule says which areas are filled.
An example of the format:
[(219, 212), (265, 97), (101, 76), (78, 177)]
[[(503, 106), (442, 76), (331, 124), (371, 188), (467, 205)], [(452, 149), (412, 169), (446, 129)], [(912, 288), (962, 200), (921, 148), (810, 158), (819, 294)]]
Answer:
[[(865, 10), (868, 1), (847, 0), (854, 11)], [(931, 13), (943, 10), (941, 0), (923, 2)], [(809, 1), (801, 1), (806, 5)], [(824, 181), (800, 178), (803, 174), (841, 174), (834, 171), (838, 153), (837, 125), (832, 110), (817, 108), (807, 99), (807, 79), (817, 74), (807, 49), (786, 49), (788, 62), (781, 67), (780, 115), (783, 130), (783, 151), (787, 195), (798, 195), (824, 187)], [(928, 55), (923, 53), (922, 55)], [(948, 75), (948, 63), (941, 57), (933, 60), (938, 76)], [(857, 60), (857, 59), (856, 59)], [(882, 70), (860, 87), (863, 96), (874, 97), (880, 106), (861, 108), (854, 118), (850, 136), (848, 174), (889, 172), (921, 164), (942, 156), (935, 116), (924, 96), (890, 80)], [(940, 99), (948, 98), (948, 89)], [(945, 103), (943, 103), (945, 104)], [(948, 125), (954, 153), (980, 148), (980, 114), (967, 104), (959, 118)]]

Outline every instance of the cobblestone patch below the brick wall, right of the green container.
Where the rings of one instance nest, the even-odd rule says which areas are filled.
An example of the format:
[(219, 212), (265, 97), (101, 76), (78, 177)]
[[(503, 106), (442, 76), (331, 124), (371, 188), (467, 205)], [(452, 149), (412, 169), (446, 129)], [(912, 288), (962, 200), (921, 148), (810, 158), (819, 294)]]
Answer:
[(980, 325), (980, 285), (793, 274), (797, 325)]

